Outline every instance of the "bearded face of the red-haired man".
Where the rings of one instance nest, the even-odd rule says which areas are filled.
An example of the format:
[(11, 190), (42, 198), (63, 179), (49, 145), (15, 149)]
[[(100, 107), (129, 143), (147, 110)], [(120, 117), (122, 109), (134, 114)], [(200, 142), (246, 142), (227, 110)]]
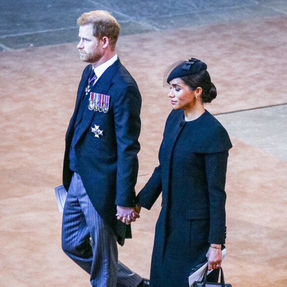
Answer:
[(93, 25), (80, 26), (81, 38), (77, 48), (80, 51), (80, 59), (88, 63), (96, 63), (103, 56), (102, 41), (93, 35)]

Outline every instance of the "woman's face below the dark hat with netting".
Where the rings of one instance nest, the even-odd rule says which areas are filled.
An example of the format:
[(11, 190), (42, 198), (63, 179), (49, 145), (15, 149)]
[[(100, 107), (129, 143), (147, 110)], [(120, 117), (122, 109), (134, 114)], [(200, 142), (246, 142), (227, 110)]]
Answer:
[(191, 91), (189, 86), (181, 79), (170, 81), (171, 91), (168, 94), (173, 109), (189, 109), (194, 105), (196, 90)]

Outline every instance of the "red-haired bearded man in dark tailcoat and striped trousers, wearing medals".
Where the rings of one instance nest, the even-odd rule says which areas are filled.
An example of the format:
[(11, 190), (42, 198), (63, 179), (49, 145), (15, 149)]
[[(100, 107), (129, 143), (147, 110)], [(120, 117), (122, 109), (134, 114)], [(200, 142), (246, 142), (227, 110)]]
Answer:
[(117, 242), (131, 238), (131, 221), (140, 217), (135, 184), (141, 95), (115, 51), (116, 19), (96, 10), (84, 13), (78, 25), (80, 58), (90, 64), (65, 139), (62, 248), (91, 274), (93, 287), (148, 286), (118, 261), (117, 250)]

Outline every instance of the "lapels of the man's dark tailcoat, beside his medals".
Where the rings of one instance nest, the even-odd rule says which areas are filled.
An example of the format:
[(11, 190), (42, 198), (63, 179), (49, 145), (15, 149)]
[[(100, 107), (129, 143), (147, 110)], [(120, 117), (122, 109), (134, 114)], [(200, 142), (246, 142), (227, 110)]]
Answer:
[[(95, 93), (98, 93), (98, 94), (107, 95), (108, 90), (112, 86), (112, 78), (120, 66), (121, 66), (121, 62), (119, 59), (117, 59), (110, 67), (108, 67), (104, 71), (104, 73), (97, 80), (95, 87), (91, 88), (91, 90), (93, 90)], [(90, 70), (90, 72), (91, 72), (91, 70)], [(88, 75), (90, 75), (90, 73)], [(88, 84), (88, 78), (89, 78), (89, 76), (87, 77), (86, 84)], [(84, 93), (84, 89), (85, 89), (85, 86), (82, 90), (82, 93)], [(79, 129), (79, 133), (78, 133), (78, 137), (76, 139), (76, 142), (79, 141), (79, 139), (81, 138), (83, 133), (90, 126), (90, 124), (93, 120), (93, 117), (95, 116), (95, 113), (96, 112), (94, 110), (91, 111), (88, 109), (88, 103), (87, 103), (87, 108), (84, 112), (83, 120), (82, 120), (80, 127), (79, 127), (80, 129)]]

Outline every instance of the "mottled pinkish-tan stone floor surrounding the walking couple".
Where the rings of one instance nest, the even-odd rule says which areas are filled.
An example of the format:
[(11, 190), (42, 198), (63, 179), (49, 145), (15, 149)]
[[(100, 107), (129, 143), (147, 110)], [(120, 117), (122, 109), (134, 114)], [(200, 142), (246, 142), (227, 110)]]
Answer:
[[(165, 68), (208, 65), (226, 113), (287, 102), (287, 16), (120, 37), (118, 55), (143, 97), (137, 192), (157, 165), (171, 110)], [(64, 135), (85, 63), (76, 43), (0, 53), (0, 286), (85, 287), (89, 275), (61, 250), (53, 187), (61, 184)], [(255, 135), (254, 135), (255, 136)], [(226, 281), (287, 285), (287, 162), (232, 137), (227, 186)], [(119, 258), (149, 276), (158, 200), (133, 224)]]

